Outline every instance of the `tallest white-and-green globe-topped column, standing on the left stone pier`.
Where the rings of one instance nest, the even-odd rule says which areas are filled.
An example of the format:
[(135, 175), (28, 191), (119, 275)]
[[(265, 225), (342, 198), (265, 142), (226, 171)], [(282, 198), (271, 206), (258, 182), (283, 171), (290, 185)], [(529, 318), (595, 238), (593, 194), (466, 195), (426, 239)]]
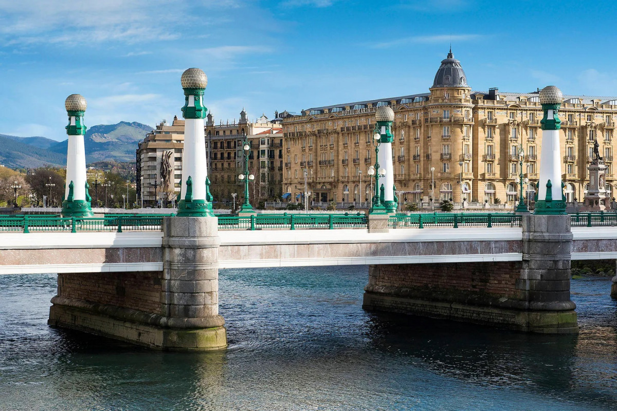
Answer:
[(208, 186), (207, 162), (205, 156), (204, 118), (208, 111), (204, 107), (204, 90), (208, 78), (199, 68), (189, 68), (182, 73), (184, 90), (184, 150), (182, 153), (182, 181), (178, 195), (178, 216), (213, 216), (212, 195)]

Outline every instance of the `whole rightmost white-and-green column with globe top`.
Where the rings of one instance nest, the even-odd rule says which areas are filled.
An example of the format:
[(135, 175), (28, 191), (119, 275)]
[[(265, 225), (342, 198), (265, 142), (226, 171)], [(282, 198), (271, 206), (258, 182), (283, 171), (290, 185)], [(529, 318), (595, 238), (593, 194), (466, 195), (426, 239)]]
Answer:
[(561, 182), (561, 151), (559, 147), (559, 108), (563, 102), (561, 90), (555, 86), (540, 91), (540, 104), (544, 110), (542, 124), (542, 155), (540, 155), (540, 181), (534, 214), (566, 214), (566, 198)]

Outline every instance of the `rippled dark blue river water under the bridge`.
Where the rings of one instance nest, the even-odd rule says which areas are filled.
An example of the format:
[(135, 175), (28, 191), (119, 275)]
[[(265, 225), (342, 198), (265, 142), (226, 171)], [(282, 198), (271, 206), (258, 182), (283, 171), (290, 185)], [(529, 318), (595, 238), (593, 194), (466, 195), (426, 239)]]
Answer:
[(366, 267), (225, 270), (230, 348), (49, 328), (56, 275), (0, 276), (0, 410), (615, 410), (617, 302), (573, 282), (579, 336), (362, 310)]

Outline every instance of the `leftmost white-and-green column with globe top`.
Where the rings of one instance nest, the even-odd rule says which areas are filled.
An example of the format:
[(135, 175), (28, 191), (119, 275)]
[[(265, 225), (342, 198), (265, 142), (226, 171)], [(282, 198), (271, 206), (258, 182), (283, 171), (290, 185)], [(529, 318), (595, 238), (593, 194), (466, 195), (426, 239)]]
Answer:
[(86, 126), (83, 116), (86, 112), (86, 99), (80, 94), (71, 94), (64, 102), (67, 109), (68, 134), (67, 179), (62, 201), (62, 215), (65, 217), (92, 217), (88, 181), (86, 179), (86, 152), (83, 136)]

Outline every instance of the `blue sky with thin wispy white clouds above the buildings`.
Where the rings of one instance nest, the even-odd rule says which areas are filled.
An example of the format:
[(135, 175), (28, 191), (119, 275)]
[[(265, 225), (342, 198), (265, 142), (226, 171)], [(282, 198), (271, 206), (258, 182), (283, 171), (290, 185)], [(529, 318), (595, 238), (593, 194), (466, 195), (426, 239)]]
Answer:
[(428, 92), (452, 43), (474, 90), (617, 96), (615, 1), (0, 0), (0, 134), (154, 126), (205, 71), (215, 122)]

